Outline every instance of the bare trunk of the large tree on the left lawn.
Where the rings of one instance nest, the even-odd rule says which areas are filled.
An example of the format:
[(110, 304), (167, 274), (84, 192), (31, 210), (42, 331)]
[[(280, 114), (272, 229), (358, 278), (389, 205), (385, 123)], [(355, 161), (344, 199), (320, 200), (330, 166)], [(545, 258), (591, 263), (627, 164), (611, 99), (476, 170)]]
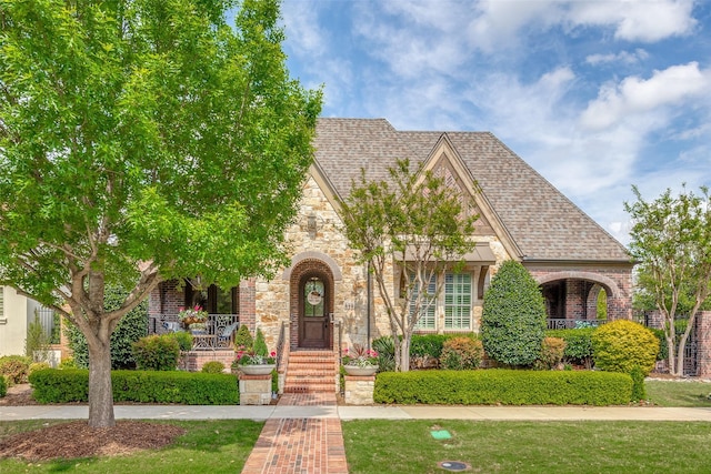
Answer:
[(111, 345), (107, 341), (89, 343), (89, 426), (112, 427)]

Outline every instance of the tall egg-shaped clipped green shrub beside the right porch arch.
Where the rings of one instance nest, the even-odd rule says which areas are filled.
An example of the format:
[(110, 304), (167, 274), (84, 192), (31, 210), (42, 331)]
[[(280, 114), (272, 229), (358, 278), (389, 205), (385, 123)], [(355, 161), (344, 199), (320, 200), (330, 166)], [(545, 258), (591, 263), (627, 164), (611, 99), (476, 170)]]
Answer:
[(503, 262), (484, 293), (484, 351), (502, 364), (531, 365), (540, 355), (544, 331), (545, 304), (538, 283), (521, 263)]

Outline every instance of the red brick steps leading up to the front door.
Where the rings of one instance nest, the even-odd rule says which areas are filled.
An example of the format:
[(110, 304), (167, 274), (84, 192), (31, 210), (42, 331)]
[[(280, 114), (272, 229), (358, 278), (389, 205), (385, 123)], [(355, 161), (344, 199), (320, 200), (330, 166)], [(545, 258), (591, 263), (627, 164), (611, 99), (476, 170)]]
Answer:
[(333, 351), (289, 353), (284, 393), (334, 393), (338, 357)]

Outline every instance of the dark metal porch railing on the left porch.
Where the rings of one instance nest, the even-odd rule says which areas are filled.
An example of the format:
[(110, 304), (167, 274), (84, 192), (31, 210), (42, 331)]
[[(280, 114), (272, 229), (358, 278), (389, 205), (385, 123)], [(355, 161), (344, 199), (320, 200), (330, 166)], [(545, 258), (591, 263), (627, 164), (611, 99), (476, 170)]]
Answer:
[[(192, 350), (230, 349), (234, 331), (239, 327), (237, 314), (209, 314), (206, 329), (192, 334)], [(151, 314), (148, 316), (149, 334), (168, 334), (184, 331), (178, 314)]]

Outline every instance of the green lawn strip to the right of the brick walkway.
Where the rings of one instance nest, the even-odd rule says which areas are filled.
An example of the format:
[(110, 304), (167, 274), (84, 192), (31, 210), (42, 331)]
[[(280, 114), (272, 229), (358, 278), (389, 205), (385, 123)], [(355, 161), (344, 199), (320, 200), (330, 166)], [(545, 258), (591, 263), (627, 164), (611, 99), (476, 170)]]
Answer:
[[(357, 420), (342, 423), (349, 472), (440, 473), (442, 461), (473, 473), (708, 473), (711, 430), (694, 422), (469, 422)], [(431, 431), (452, 438), (437, 441)]]

